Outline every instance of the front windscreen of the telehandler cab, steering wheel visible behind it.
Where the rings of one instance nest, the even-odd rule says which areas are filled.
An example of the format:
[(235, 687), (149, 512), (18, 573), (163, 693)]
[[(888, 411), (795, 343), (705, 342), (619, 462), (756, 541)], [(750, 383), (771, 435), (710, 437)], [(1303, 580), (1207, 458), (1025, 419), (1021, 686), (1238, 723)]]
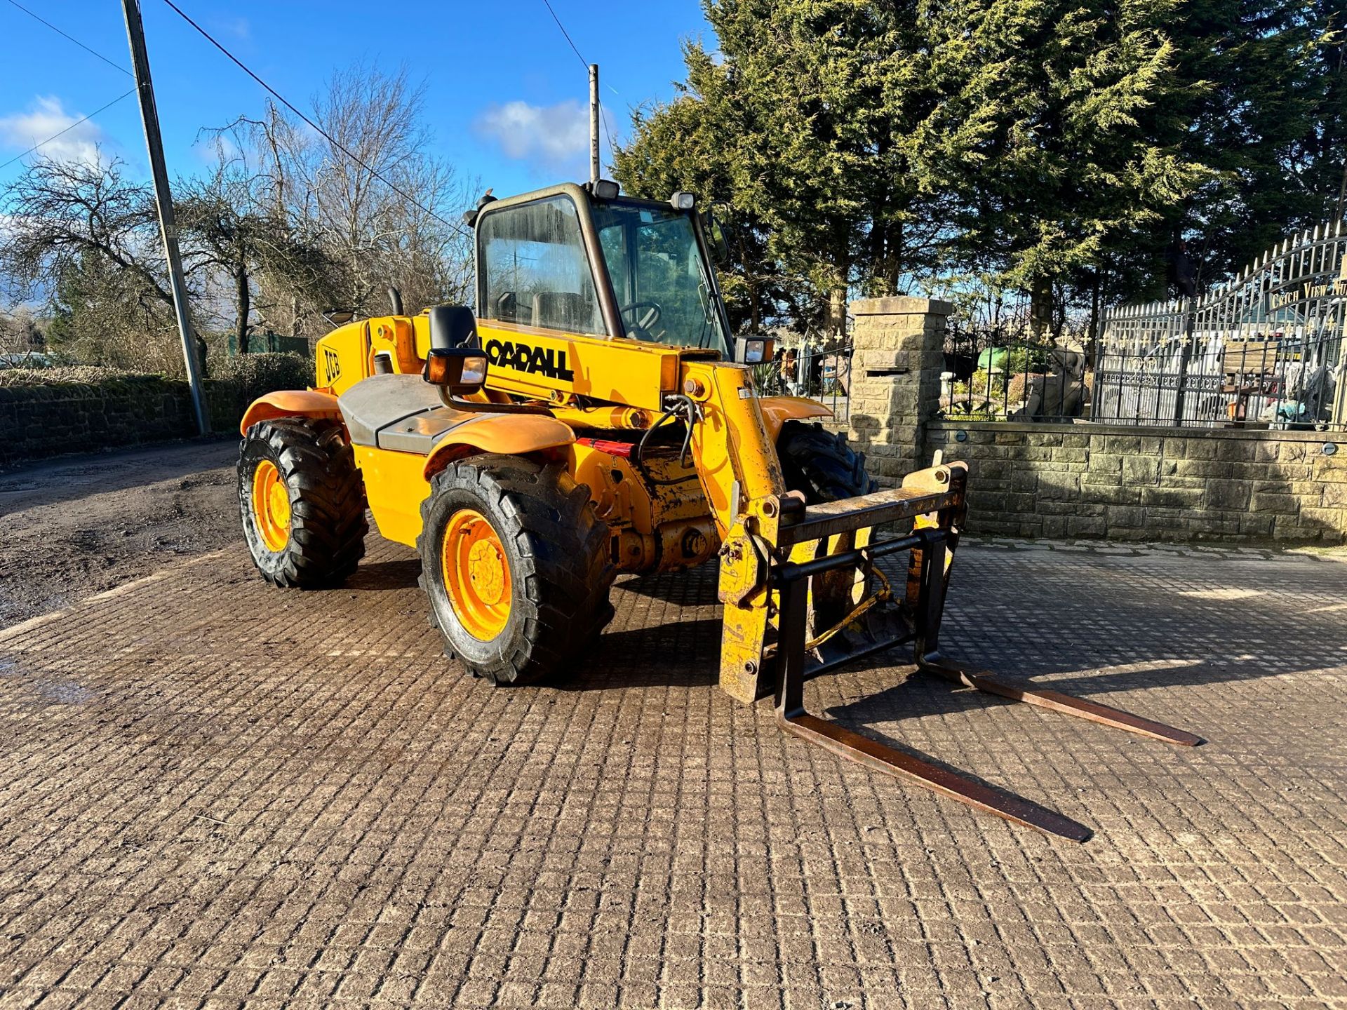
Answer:
[(594, 224), (628, 337), (729, 356), (690, 214), (595, 203)]

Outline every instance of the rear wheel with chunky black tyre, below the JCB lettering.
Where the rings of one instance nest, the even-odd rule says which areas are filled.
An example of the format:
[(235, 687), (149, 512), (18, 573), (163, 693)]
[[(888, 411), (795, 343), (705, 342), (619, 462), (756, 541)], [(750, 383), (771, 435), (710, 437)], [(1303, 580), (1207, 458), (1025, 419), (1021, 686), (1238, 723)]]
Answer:
[(273, 586), (338, 586), (365, 556), (365, 483), (335, 422), (279, 417), (248, 428), (238, 509), (253, 564)]

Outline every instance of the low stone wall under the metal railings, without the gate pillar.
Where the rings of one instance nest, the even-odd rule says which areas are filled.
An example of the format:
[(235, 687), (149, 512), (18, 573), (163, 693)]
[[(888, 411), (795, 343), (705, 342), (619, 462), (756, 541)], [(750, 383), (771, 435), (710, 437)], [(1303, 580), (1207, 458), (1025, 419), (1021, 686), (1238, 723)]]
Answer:
[(935, 423), (927, 427), (924, 444), (928, 454), (942, 450), (946, 459), (968, 463), (971, 531), (1342, 543), (1347, 439), (1335, 438), (1300, 431)]

